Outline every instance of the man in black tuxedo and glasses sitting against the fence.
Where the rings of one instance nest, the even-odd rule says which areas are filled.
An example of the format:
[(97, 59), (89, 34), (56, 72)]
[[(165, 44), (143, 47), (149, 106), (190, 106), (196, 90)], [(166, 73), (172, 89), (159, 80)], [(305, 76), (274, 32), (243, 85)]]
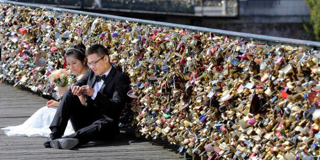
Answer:
[[(90, 69), (67, 91), (50, 125), (45, 147), (71, 149), (91, 140), (106, 140), (119, 134), (119, 117), (123, 110), (129, 78), (110, 63), (109, 50), (94, 44), (86, 52)], [(86, 105), (78, 96), (85, 95)], [(62, 137), (70, 119), (75, 131)]]

